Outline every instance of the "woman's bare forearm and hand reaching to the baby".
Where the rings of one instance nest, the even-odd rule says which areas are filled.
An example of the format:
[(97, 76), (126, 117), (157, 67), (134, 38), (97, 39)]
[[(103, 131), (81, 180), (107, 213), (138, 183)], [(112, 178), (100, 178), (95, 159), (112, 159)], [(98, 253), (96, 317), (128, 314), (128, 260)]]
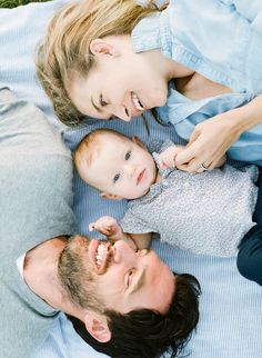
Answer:
[(198, 171), (202, 163), (213, 169), (244, 131), (260, 123), (262, 95), (245, 106), (199, 123), (187, 148), (175, 157), (175, 165), (189, 172)]

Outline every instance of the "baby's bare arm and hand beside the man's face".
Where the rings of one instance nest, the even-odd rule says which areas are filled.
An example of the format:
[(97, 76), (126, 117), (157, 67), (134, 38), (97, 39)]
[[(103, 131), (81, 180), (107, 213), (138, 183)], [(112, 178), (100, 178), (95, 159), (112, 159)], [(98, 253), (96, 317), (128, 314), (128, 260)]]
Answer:
[(118, 221), (109, 216), (101, 217), (95, 222), (91, 222), (89, 225), (89, 230), (97, 230), (105, 235), (107, 238), (112, 241), (124, 240), (134, 250), (148, 248), (151, 240), (150, 232), (141, 235), (123, 232)]

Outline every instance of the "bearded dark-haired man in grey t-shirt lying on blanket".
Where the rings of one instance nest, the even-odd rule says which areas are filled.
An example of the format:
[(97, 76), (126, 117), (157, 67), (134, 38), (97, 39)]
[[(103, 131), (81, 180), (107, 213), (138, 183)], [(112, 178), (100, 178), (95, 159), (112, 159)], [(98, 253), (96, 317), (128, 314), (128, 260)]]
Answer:
[(198, 322), (198, 281), (174, 277), (153, 251), (69, 239), (70, 152), (42, 112), (1, 83), (0, 155), (1, 357), (30, 357), (60, 310), (112, 357), (175, 352)]

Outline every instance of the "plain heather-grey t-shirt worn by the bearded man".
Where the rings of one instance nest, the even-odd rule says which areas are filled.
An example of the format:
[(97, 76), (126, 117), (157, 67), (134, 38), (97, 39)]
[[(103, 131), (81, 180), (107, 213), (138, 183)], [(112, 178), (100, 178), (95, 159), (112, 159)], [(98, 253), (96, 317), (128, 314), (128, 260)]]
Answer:
[(0, 83), (0, 356), (29, 358), (58, 311), (23, 281), (17, 259), (74, 231), (72, 161), (34, 106)]

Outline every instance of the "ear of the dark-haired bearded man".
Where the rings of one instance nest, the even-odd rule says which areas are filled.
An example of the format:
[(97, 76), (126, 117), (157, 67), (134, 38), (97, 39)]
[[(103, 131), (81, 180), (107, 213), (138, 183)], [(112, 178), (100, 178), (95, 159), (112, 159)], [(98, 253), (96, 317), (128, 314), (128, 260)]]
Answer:
[(88, 311), (84, 316), (84, 325), (88, 332), (101, 344), (110, 341), (112, 334), (105, 316), (94, 311)]

